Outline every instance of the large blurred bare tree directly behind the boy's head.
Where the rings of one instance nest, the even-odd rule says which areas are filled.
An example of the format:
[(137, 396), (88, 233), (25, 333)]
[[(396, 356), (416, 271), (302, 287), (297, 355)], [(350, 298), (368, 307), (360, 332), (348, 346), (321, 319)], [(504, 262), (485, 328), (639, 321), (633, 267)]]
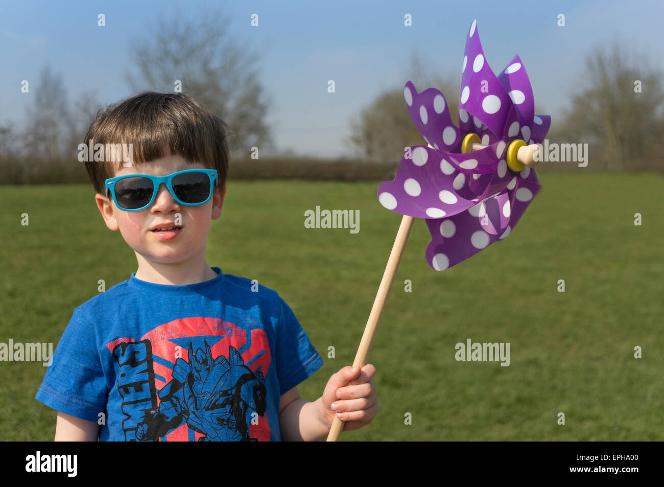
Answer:
[(232, 130), (231, 153), (246, 157), (253, 146), (274, 147), (264, 122), (270, 102), (258, 80), (258, 56), (229, 37), (229, 20), (206, 12), (197, 21), (160, 17), (146, 39), (133, 45), (136, 75), (127, 74), (135, 91), (173, 92), (176, 80)]

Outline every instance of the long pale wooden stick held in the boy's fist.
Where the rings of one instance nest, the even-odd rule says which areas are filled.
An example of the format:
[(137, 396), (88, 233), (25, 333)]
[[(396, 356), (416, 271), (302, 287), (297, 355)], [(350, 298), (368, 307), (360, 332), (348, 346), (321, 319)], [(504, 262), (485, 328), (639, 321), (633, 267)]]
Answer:
[[(401, 219), (401, 226), (396, 234), (396, 239), (394, 239), (394, 245), (392, 246), (392, 252), (390, 252), (390, 258), (387, 260), (385, 272), (382, 274), (382, 280), (380, 281), (380, 286), (378, 286), (378, 294), (376, 294), (376, 299), (371, 308), (369, 321), (367, 321), (365, 334), (362, 336), (362, 341), (360, 341), (360, 346), (357, 349), (357, 355), (355, 355), (353, 367), (362, 368), (367, 365), (367, 356), (369, 355), (369, 349), (371, 349), (371, 342), (378, 329), (378, 322), (380, 322), (387, 295), (390, 294), (390, 288), (392, 288), (392, 282), (394, 282), (394, 275), (399, 267), (399, 262), (404, 253), (404, 247), (406, 246), (406, 241), (408, 241), (408, 235), (410, 235), (410, 229), (413, 225), (414, 219), (414, 217), (409, 217), (408, 215), (404, 215)], [(327, 441), (337, 441), (339, 435), (341, 435), (341, 430), (343, 430), (344, 424), (345, 421), (341, 421), (341, 419), (335, 416), (329, 435), (327, 435)]]

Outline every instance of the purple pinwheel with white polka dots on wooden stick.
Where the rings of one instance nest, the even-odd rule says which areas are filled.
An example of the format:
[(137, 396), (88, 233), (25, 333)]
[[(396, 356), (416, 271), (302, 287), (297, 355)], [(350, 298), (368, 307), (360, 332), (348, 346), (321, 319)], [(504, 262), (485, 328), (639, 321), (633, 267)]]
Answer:
[[(535, 115), (528, 74), (519, 56), (497, 76), (485, 59), (473, 20), (465, 42), (459, 126), (436, 88), (404, 88), (410, 117), (428, 146), (404, 153), (394, 181), (378, 186), (378, 201), (404, 215), (353, 366), (363, 367), (415, 218), (431, 234), (426, 261), (446, 270), (513, 231), (540, 191), (535, 153), (550, 117)], [(328, 440), (337, 440), (335, 419)]]

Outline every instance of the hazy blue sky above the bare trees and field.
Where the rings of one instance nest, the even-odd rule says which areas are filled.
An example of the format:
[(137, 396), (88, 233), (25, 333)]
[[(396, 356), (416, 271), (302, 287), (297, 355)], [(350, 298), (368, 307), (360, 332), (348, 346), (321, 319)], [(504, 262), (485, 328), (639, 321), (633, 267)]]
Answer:
[[(135, 94), (125, 80), (134, 69), (132, 50), (159, 13), (195, 23), (215, 7), (228, 35), (258, 54), (256, 68), (272, 102), (266, 124), (277, 149), (314, 157), (353, 155), (351, 117), (383, 92), (402, 89), (412, 56), (427, 72), (460, 80), (473, 19), (494, 72), (521, 56), (535, 102), (552, 125), (587, 81), (584, 61), (594, 49), (616, 41), (655, 68), (664, 59), (662, 0), (0, 0), (0, 124), (22, 126), (31, 97), (21, 93), (21, 82), (37, 86), (46, 65), (62, 76), (70, 100), (93, 92), (106, 106)], [(105, 27), (97, 25), (100, 13)], [(328, 80), (335, 81), (334, 93)]]

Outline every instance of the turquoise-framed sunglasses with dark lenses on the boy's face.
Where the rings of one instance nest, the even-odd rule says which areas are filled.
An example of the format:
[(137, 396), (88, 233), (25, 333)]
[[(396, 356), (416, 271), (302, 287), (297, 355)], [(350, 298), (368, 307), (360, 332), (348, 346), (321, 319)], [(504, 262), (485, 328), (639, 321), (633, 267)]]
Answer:
[(212, 197), (218, 184), (216, 169), (186, 169), (165, 176), (127, 174), (106, 179), (106, 197), (113, 195), (116, 206), (124, 211), (141, 211), (149, 207), (161, 183), (173, 199), (186, 206), (203, 205)]

